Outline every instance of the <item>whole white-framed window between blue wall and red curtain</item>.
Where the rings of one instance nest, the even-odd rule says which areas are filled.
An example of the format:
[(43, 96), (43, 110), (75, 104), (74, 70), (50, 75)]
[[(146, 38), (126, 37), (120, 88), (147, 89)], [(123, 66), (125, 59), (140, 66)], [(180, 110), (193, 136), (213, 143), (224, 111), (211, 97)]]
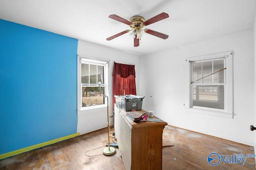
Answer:
[(105, 106), (108, 63), (80, 58), (78, 65), (78, 110)]

